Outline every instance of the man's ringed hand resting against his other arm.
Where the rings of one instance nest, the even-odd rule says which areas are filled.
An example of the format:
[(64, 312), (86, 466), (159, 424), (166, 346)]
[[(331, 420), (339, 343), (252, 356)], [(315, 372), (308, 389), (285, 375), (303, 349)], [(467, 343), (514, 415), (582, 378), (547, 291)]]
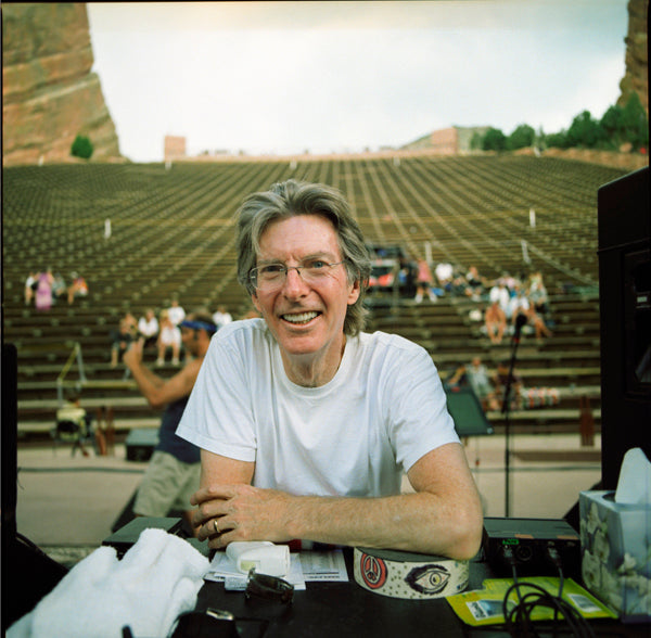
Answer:
[(192, 525), (200, 540), (224, 548), (233, 540), (292, 540), (288, 531), (290, 503), (283, 492), (245, 484), (210, 485), (196, 492), (190, 502), (199, 506)]

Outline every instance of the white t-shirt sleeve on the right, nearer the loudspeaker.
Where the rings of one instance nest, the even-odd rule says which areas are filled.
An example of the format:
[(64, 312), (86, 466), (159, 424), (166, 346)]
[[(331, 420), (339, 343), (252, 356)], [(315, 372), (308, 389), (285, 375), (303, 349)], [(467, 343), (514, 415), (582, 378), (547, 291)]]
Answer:
[(424, 348), (417, 346), (397, 358), (384, 400), (388, 436), (405, 472), (429, 451), (459, 443), (438, 372)]

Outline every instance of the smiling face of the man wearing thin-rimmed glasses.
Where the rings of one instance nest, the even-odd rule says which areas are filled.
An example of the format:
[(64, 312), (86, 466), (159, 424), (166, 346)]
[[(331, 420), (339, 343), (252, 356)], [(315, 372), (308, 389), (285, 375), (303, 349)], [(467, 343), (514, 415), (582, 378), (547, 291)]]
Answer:
[[(320, 215), (271, 222), (259, 246), (258, 267), (299, 266), (314, 259), (339, 264), (343, 259), (333, 225)], [(336, 359), (339, 365), (346, 310), (358, 297), (358, 283), (348, 282), (345, 265), (341, 264), (328, 269), (318, 283), (307, 283), (291, 269), (280, 288), (257, 290), (252, 299), (280, 345), (283, 360), (312, 356), (323, 361)]]

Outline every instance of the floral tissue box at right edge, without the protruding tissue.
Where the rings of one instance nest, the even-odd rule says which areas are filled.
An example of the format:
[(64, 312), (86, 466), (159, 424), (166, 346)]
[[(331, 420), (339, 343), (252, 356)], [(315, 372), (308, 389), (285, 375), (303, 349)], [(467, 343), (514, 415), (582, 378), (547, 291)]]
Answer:
[(582, 492), (584, 585), (625, 622), (651, 620), (651, 506), (615, 502), (614, 492)]

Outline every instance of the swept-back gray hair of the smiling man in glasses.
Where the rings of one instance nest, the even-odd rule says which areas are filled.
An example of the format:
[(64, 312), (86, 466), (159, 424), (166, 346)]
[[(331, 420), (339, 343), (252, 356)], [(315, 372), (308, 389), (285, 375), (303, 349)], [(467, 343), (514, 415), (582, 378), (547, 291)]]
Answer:
[(290, 179), (275, 183), (268, 191), (248, 195), (237, 213), (238, 281), (248, 294), (255, 294), (248, 273), (256, 267), (263, 233), (272, 221), (297, 215), (320, 215), (334, 226), (348, 282), (359, 282), (359, 298), (348, 306), (344, 320), (344, 333), (355, 336), (363, 329), (368, 314), (363, 297), (371, 275), (371, 258), (348, 203), (332, 187)]

